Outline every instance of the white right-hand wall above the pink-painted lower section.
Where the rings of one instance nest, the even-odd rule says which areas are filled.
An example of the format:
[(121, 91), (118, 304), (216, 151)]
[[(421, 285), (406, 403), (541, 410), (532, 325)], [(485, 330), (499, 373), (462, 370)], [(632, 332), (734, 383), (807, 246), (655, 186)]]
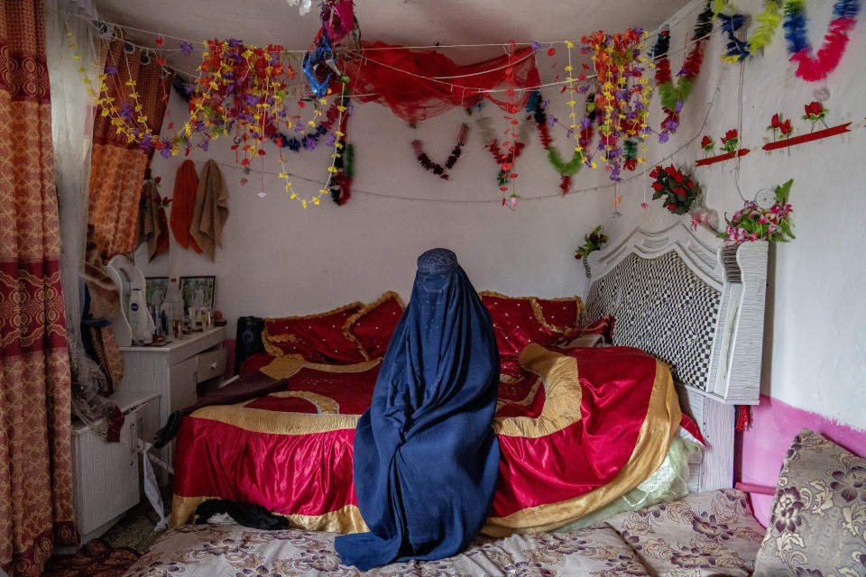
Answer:
[[(697, 6), (693, 3), (692, 6)], [(760, 14), (763, 2), (738, 2), (744, 14)], [(820, 46), (831, 16), (832, 3), (809, 2), (809, 40)], [(698, 134), (718, 139), (738, 126), (742, 108), (742, 145), (751, 153), (742, 157), (739, 183), (742, 195), (753, 199), (760, 188), (773, 188), (794, 179), (790, 202), (797, 240), (776, 248), (775, 289), (771, 291), (772, 317), (766, 334), (764, 376), (761, 392), (797, 408), (819, 413), (858, 428), (866, 428), (866, 342), (862, 327), (866, 321), (866, 300), (860, 297), (866, 285), (866, 261), (861, 250), (866, 241), (863, 217), (866, 215), (866, 131), (863, 130), (862, 60), (866, 56), (866, 23), (860, 22), (852, 34), (838, 69), (825, 83), (806, 83), (794, 76), (788, 64), (783, 31), (779, 27), (763, 56), (747, 60), (742, 67), (742, 98), (739, 65), (724, 65), (718, 54), (723, 39), (715, 36), (706, 52), (704, 68), (684, 109), (677, 138), (668, 144), (652, 146), (650, 160), (669, 154)], [(694, 16), (685, 18), (672, 33), (671, 47), (682, 46), (684, 34), (691, 33)], [(682, 56), (671, 58), (676, 74)], [(723, 73), (715, 104), (700, 131), (713, 99), (714, 89)], [(800, 119), (803, 105), (815, 99), (818, 87), (829, 91), (824, 103), (829, 109), (830, 126), (852, 121), (852, 133), (824, 141), (802, 144), (788, 151), (765, 152), (760, 147), (771, 134), (766, 131), (772, 114), (790, 118), (796, 133), (807, 133), (810, 124)], [(658, 110), (658, 103), (653, 108)], [(823, 128), (819, 124), (818, 128)], [(707, 203), (720, 214), (742, 206), (737, 193), (737, 163), (729, 160), (709, 167), (695, 168), (703, 157), (696, 142), (677, 154), (678, 167), (689, 168), (705, 187)], [(718, 142), (718, 141), (716, 141)], [(718, 147), (717, 147), (718, 148)], [(651, 209), (640, 209), (640, 187), (631, 189), (623, 202), (622, 219), (611, 223), (614, 234), (635, 224), (659, 229), (677, 218), (669, 215), (660, 201)], [(685, 217), (683, 217), (685, 218)], [(774, 293), (774, 294), (773, 294)]]

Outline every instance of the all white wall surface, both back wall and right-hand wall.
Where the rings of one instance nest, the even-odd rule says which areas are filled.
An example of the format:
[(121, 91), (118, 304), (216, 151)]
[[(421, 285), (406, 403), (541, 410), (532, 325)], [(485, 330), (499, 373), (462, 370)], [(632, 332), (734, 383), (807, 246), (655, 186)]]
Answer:
[[(674, 21), (671, 63), (674, 73), (683, 55), (677, 51), (691, 33), (700, 2), (686, 6)], [(763, 3), (737, 3), (745, 14), (758, 14)], [(809, 2), (808, 30), (813, 46), (819, 46), (830, 18), (831, 3)], [(861, 21), (866, 16), (861, 16)], [(589, 31), (576, 31), (576, 33)], [(650, 39), (650, 44), (653, 39)], [(866, 266), (860, 254), (866, 239), (863, 215), (866, 195), (866, 132), (862, 130), (862, 94), (866, 80), (860, 74), (866, 55), (866, 23), (858, 23), (851, 44), (838, 69), (825, 83), (830, 96), (828, 122), (852, 121), (852, 133), (804, 144), (790, 151), (765, 153), (760, 146), (770, 134), (764, 129), (770, 116), (779, 112), (792, 119), (797, 133), (808, 131), (799, 118), (803, 105), (814, 99), (814, 84), (793, 75), (788, 64), (785, 41), (779, 27), (763, 56), (748, 60), (742, 67), (723, 65), (718, 59), (723, 39), (714, 36), (706, 50), (705, 64), (697, 86), (681, 118), (681, 126), (670, 142), (650, 144), (648, 160), (660, 160), (689, 139), (695, 139), (674, 161), (682, 168), (694, 167), (703, 156), (702, 134), (714, 138), (726, 130), (741, 129), (741, 138), (752, 152), (742, 158), (739, 186), (742, 195), (754, 197), (760, 188), (772, 188), (794, 179), (794, 243), (776, 250), (775, 305), (766, 339), (765, 375), (762, 392), (843, 423), (866, 427), (866, 352), (861, 327), (866, 321), (866, 304), (858, 289), (866, 285)], [(546, 57), (540, 57), (544, 59)], [(548, 68), (542, 60), (542, 69)], [(721, 75), (721, 84), (720, 82)], [(820, 84), (820, 83), (819, 83)], [(715, 94), (716, 86), (720, 86)], [(549, 93), (553, 112), (567, 118), (565, 98)], [(704, 123), (708, 103), (714, 101)], [(558, 106), (558, 108), (557, 108)], [(738, 117), (742, 108), (742, 128)], [(172, 96), (171, 114), (178, 124), (183, 103)], [(659, 103), (650, 109), (658, 125)], [(477, 114), (477, 113), (476, 113)], [(499, 110), (488, 105), (482, 114), (494, 119)], [(446, 181), (423, 171), (411, 151), (410, 142), (420, 137), (434, 159), (444, 160), (453, 146), (459, 123), (465, 114), (453, 111), (410, 129), (379, 105), (357, 105), (350, 136), (356, 150), (355, 188), (358, 192), (346, 206), (323, 206), (302, 210), (281, 194), (281, 182), (266, 176), (262, 187), (259, 175), (239, 184), (239, 169), (223, 173), (231, 195), (231, 216), (224, 231), (224, 249), (217, 250), (212, 264), (201, 255), (180, 251), (173, 242), (169, 259), (154, 261), (147, 270), (153, 274), (171, 270), (172, 275), (215, 274), (217, 307), (233, 321), (241, 315), (279, 316), (304, 314), (336, 307), (354, 299), (369, 301), (384, 290), (393, 289), (409, 297), (420, 252), (447, 246), (456, 251), (477, 289), (494, 289), (513, 295), (555, 297), (583, 294), (583, 269), (574, 260), (574, 249), (595, 224), (604, 224), (612, 238), (640, 224), (660, 229), (676, 220), (659, 205), (650, 202), (643, 210), (644, 196), (650, 198), (649, 180), (643, 177), (623, 183), (622, 218), (610, 219), (613, 189), (523, 202), (516, 212), (502, 209), (495, 185), (496, 164), (481, 148), (480, 131), (469, 136), (462, 158)], [(468, 117), (472, 123), (474, 116)], [(166, 121), (165, 124), (168, 124)], [(497, 125), (497, 124), (494, 124)], [(569, 149), (560, 131), (557, 145)], [(234, 153), (229, 142), (217, 142), (210, 152), (193, 152), (197, 161), (214, 158), (230, 162)], [(269, 148), (265, 169), (275, 170), (273, 148)], [(325, 174), (327, 152), (295, 154), (287, 151), (290, 170), (309, 178)], [(174, 157), (153, 162), (153, 173), (161, 175), (162, 190), (170, 195), (174, 173), (182, 159)], [(200, 166), (200, 164), (199, 164)], [(742, 206), (737, 193), (737, 163), (728, 161), (710, 167), (692, 168), (705, 187), (707, 203), (720, 213), (731, 215)], [(558, 176), (548, 166), (537, 137), (533, 134), (527, 151), (518, 162), (518, 192), (526, 197), (557, 192)], [(607, 183), (602, 170), (584, 170), (576, 176), (575, 188)], [(310, 191), (317, 185), (300, 183)], [(256, 192), (264, 188), (267, 197)], [(430, 203), (406, 199), (372, 197), (360, 191), (398, 197), (430, 197), (450, 200), (489, 200), (488, 203)], [(680, 217), (685, 218), (685, 217)], [(772, 304), (772, 303), (770, 303)]]

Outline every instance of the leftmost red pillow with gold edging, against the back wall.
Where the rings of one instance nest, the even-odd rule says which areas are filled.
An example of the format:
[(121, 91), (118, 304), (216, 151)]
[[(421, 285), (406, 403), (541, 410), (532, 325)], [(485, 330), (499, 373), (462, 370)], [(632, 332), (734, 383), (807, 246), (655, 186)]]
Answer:
[(327, 313), (264, 319), (262, 341), (272, 356), (299, 354), (309, 362), (364, 362), (357, 344), (345, 337), (345, 320), (364, 307), (355, 302)]

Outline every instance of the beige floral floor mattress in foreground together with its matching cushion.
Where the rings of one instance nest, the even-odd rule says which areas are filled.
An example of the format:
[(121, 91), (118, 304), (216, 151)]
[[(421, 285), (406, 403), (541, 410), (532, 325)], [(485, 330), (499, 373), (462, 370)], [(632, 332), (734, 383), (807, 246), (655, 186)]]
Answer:
[(170, 529), (126, 572), (153, 575), (719, 577), (864, 575), (866, 460), (803, 429), (764, 529), (740, 490), (709, 490), (564, 533), (478, 536), (460, 554), (367, 573), (340, 563), (334, 533), (234, 524)]

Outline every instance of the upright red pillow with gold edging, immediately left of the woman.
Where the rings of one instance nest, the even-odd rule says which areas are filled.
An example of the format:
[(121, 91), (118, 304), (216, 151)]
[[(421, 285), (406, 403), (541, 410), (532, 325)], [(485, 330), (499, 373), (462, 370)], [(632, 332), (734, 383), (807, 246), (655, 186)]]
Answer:
[(400, 296), (389, 290), (375, 302), (346, 318), (343, 334), (357, 344), (364, 359), (369, 361), (383, 357), (402, 314)]

